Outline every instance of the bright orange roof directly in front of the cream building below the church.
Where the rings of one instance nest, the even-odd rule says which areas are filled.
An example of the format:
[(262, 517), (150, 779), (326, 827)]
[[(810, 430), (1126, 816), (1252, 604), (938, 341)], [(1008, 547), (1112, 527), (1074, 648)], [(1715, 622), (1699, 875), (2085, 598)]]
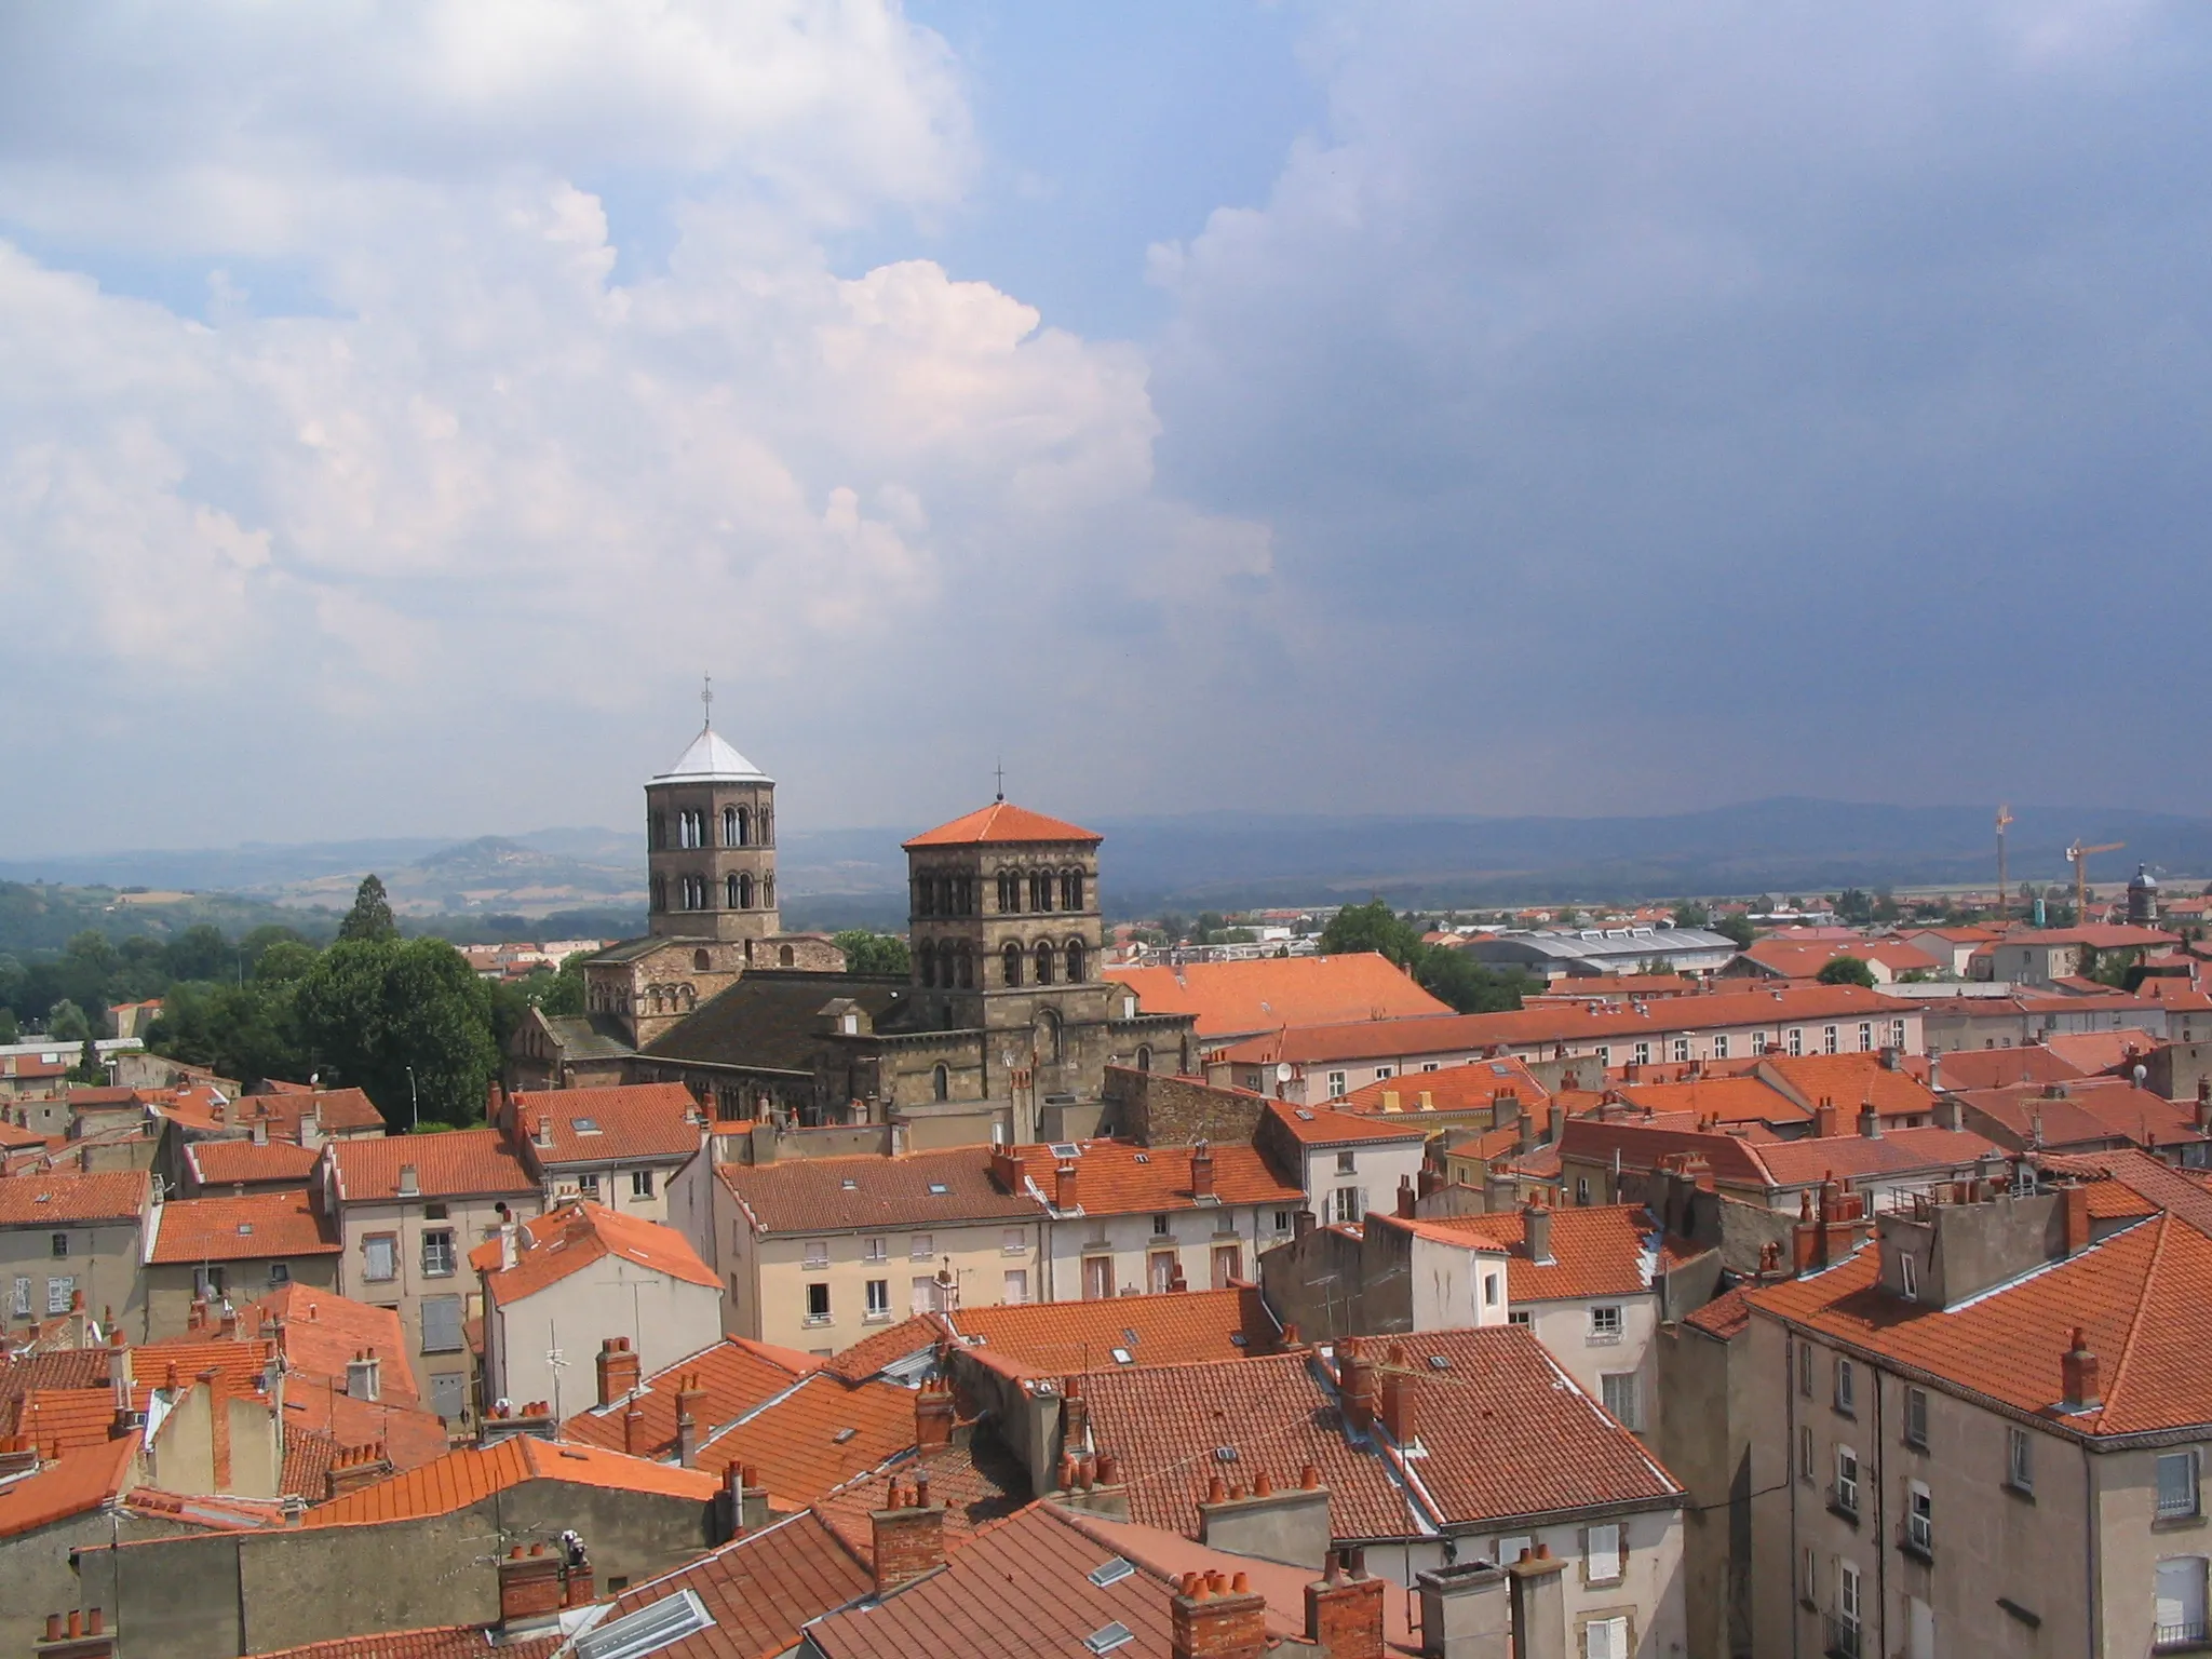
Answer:
[(964, 1307), (938, 1318), (958, 1334), (962, 1354), (1006, 1376), (1119, 1367), (1117, 1349), (1130, 1365), (1192, 1365), (1254, 1358), (1279, 1345), (1256, 1287)]

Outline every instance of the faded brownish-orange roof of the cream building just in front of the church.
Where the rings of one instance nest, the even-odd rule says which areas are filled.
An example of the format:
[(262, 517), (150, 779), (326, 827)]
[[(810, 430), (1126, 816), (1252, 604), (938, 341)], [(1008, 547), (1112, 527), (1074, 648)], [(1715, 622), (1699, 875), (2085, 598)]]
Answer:
[(1040, 1217), (1033, 1197), (1006, 1192), (991, 1179), (987, 1146), (902, 1157), (721, 1164), (714, 1175), (761, 1232), (863, 1232)]

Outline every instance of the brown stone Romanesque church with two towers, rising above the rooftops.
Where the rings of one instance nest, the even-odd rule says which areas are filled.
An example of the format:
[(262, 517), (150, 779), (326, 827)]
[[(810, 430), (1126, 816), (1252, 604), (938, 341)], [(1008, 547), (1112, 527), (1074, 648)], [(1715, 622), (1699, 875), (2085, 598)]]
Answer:
[(1190, 1015), (1104, 978), (1099, 843), (1004, 796), (909, 838), (909, 973), (852, 973), (783, 929), (774, 779), (710, 714), (646, 783), (646, 936), (584, 962), (582, 1015), (531, 1013), (507, 1082), (681, 1082), (719, 1121), (914, 1148), (1084, 1133), (1108, 1066), (1197, 1062)]

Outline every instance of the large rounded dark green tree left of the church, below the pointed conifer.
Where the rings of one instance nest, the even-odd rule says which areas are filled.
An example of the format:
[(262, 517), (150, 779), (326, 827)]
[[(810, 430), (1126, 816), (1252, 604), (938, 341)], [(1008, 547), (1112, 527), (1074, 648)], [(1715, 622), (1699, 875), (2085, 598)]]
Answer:
[[(356, 907), (358, 909), (358, 907)], [(491, 989), (442, 938), (343, 938), (294, 1002), (325, 1077), (358, 1084), (389, 1124), (469, 1124), (498, 1068)]]

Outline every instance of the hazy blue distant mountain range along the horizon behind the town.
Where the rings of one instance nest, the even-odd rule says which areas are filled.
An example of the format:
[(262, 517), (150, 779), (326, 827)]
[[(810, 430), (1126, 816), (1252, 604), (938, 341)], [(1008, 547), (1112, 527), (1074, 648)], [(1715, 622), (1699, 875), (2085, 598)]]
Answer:
[[(1991, 807), (1893, 807), (1772, 799), (1621, 818), (1478, 818), (1208, 812), (1099, 818), (1104, 887), (1117, 916), (1159, 909), (1327, 905), (1383, 894), (1396, 905), (1504, 905), (1803, 894), (1840, 887), (1991, 885)], [(794, 927), (898, 925), (911, 830), (792, 830), (779, 849)], [(2020, 807), (2015, 883), (2066, 883), (2064, 849), (2121, 841), (2090, 876), (2150, 863), (2197, 883), (2212, 874), (2212, 818), (2130, 810)], [(365, 872), (411, 916), (641, 914), (635, 832), (568, 827), (473, 841), (248, 843), (0, 860), (0, 880), (234, 891), (343, 909)]]

